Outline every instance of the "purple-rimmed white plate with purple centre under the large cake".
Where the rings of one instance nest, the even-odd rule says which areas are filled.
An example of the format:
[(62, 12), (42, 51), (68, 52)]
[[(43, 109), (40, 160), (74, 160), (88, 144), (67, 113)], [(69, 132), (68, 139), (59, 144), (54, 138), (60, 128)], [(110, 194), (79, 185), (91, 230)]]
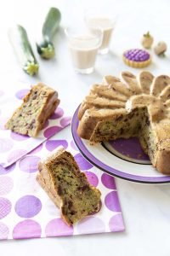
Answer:
[(165, 176), (150, 164), (150, 160), (140, 147), (137, 138), (118, 139), (108, 143), (90, 145), (77, 135), (77, 108), (71, 121), (74, 142), (82, 155), (94, 166), (115, 177), (138, 183), (170, 183)]

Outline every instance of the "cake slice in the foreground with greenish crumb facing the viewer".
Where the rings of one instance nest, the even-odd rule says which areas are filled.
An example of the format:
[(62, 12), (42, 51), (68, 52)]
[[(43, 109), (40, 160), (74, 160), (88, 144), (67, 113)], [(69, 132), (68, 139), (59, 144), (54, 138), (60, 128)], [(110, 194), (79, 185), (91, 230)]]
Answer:
[(37, 182), (59, 207), (66, 224), (99, 211), (100, 192), (88, 183), (74, 157), (59, 147), (38, 164)]

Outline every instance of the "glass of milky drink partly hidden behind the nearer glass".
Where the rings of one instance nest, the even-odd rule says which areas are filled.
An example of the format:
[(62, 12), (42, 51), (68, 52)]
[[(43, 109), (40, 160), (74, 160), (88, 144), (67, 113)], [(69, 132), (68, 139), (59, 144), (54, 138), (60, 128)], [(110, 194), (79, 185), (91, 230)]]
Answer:
[(109, 51), (111, 36), (116, 25), (116, 15), (105, 14), (99, 11), (88, 11), (85, 14), (85, 22), (91, 31), (100, 28), (103, 32), (102, 43), (99, 47), (99, 53), (104, 55)]

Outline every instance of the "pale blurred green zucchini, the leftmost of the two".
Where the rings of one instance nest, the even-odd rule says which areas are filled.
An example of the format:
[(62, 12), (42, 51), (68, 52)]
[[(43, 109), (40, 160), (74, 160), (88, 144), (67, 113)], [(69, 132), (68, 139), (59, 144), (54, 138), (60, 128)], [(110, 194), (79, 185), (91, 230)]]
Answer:
[(23, 70), (31, 76), (36, 74), (39, 66), (31, 49), (26, 29), (17, 25), (9, 30), (8, 37)]

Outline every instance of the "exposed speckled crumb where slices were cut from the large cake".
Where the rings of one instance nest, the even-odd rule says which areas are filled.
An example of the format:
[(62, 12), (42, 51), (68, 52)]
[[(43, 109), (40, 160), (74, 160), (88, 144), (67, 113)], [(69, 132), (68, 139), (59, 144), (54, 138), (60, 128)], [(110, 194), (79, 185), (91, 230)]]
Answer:
[(156, 154), (156, 134), (151, 129), (150, 117), (146, 108), (135, 108), (115, 119), (100, 121), (92, 134), (92, 141), (104, 142), (117, 138), (139, 137), (144, 152), (154, 160)]

